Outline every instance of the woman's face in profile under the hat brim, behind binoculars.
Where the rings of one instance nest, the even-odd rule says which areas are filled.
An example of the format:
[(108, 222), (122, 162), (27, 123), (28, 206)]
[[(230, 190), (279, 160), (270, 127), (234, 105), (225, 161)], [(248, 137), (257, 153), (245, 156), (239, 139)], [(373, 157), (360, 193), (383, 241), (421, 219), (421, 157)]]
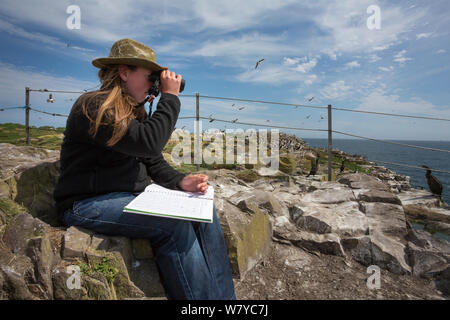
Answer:
[(134, 71), (130, 70), (127, 66), (119, 67), (119, 74), (125, 82), (128, 94), (139, 102), (145, 99), (148, 94), (148, 89), (152, 85), (148, 81), (148, 76), (151, 73), (150, 70), (142, 67), (137, 67)]

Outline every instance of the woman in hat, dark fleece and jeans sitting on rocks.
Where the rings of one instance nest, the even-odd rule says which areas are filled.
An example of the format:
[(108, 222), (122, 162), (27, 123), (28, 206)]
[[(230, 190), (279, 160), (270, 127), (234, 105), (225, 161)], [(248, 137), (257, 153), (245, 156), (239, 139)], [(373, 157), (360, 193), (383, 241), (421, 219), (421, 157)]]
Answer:
[[(208, 176), (181, 174), (161, 155), (180, 112), (181, 76), (159, 66), (151, 48), (131, 39), (117, 41), (109, 57), (92, 64), (100, 68), (101, 88), (75, 102), (61, 146), (54, 191), (61, 219), (68, 227), (149, 239), (168, 299), (235, 299), (215, 207), (211, 224), (122, 211), (151, 180), (206, 192)], [(150, 118), (140, 102), (152, 72), (161, 72), (161, 98)]]

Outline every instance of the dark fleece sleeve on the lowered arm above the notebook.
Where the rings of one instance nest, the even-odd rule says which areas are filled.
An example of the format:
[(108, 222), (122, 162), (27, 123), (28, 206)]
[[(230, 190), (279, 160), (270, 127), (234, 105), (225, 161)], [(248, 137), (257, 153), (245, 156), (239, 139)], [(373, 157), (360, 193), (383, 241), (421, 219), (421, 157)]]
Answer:
[(157, 184), (168, 189), (182, 190), (178, 187), (178, 182), (186, 175), (175, 170), (161, 154), (155, 157), (143, 158), (141, 161), (147, 167), (147, 174)]

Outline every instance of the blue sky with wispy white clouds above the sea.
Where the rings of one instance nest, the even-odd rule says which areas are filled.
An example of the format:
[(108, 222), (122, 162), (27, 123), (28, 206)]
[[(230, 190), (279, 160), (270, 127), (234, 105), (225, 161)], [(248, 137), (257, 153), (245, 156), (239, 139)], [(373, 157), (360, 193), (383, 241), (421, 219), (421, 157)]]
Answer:
[[(80, 8), (80, 29), (67, 28), (69, 5)], [(379, 29), (368, 28), (371, 5), (380, 9)], [(91, 61), (106, 57), (115, 41), (132, 38), (155, 49), (158, 63), (182, 74), (185, 94), (450, 119), (449, 9), (448, 0), (5, 1), (0, 8), (0, 108), (23, 106), (26, 86), (96, 87), (98, 69)], [(51, 104), (48, 95), (32, 92), (30, 103), (68, 114), (76, 97), (55, 93)], [(181, 100), (180, 116), (193, 116), (195, 98)], [(200, 114), (327, 128), (326, 110), (303, 107), (204, 98)], [(21, 109), (0, 112), (1, 123), (24, 123), (24, 118)], [(65, 126), (65, 121), (31, 112), (31, 125)], [(183, 126), (193, 131), (192, 120), (180, 119), (177, 127)], [(208, 120), (202, 126), (250, 128)], [(448, 121), (343, 111), (333, 112), (333, 129), (379, 139), (450, 140)]]

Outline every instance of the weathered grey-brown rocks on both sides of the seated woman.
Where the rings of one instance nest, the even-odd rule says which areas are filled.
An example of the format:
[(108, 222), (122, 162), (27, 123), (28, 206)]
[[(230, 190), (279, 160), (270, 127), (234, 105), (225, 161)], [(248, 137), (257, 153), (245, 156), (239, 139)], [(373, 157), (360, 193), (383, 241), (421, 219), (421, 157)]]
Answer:
[[(12, 181), (23, 179), (25, 172), (46, 163), (49, 173), (45, 174), (53, 178), (36, 189), (34, 201), (24, 201), (13, 211), (0, 210), (0, 299), (164, 297), (148, 240), (65, 228), (58, 225), (51, 210), (35, 210), (38, 199), (45, 199), (39, 192), (53, 192), (55, 161), (51, 156), (39, 158), (34, 167), (29, 164), (15, 171), (12, 162), (2, 166), (6, 168), (2, 186), (8, 188), (2, 189), (6, 190), (2, 204), (16, 200), (14, 195), (22, 187), (30, 192), (26, 179), (15, 184), (18, 189), (12, 187)], [(393, 178), (399, 184), (381, 179), (380, 170), (374, 169), (373, 176), (347, 173), (334, 182), (322, 182), (320, 175), (306, 177), (264, 167), (203, 171), (215, 188), (235, 281), (250, 277), (276, 243), (293, 252), (286, 260), (291, 266), (308, 264), (310, 255), (335, 257), (347, 266), (376, 265), (395, 275), (429, 279), (439, 290), (437, 294), (448, 297), (448, 242), (414, 229), (408, 221), (446, 224), (450, 222), (448, 210), (438, 207), (439, 202), (424, 191), (409, 188), (408, 179)], [(390, 175), (383, 174), (384, 178)], [(81, 272), (79, 285), (77, 270)]]

